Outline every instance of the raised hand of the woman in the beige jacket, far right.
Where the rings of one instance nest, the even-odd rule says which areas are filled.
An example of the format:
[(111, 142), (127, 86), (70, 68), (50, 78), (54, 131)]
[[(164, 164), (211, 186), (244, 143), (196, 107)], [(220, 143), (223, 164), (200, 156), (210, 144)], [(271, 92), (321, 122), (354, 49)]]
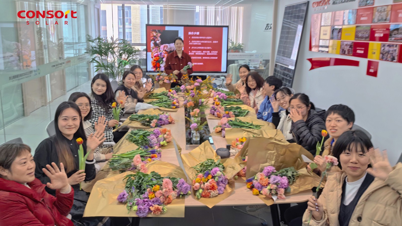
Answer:
[(370, 148), (368, 151), (371, 167), (367, 168), (367, 173), (385, 181), (392, 171), (390, 162), (388, 161), (387, 150), (381, 152), (378, 148)]

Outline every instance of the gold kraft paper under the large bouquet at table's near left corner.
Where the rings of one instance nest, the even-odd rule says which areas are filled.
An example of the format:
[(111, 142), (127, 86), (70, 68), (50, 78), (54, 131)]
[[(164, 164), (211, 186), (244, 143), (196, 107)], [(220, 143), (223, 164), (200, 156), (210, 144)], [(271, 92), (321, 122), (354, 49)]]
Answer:
[[(179, 177), (185, 179), (183, 170), (174, 164), (162, 161), (153, 161), (146, 164), (148, 173), (155, 171), (162, 177)], [(109, 216), (109, 217), (137, 217), (136, 211), (127, 213), (126, 205), (117, 201), (117, 196), (124, 190), (126, 175), (133, 172), (127, 171), (96, 182), (89, 196), (84, 211), (84, 217)], [(185, 197), (177, 197), (166, 206), (164, 214), (148, 214), (149, 217), (173, 217), (184, 218)]]

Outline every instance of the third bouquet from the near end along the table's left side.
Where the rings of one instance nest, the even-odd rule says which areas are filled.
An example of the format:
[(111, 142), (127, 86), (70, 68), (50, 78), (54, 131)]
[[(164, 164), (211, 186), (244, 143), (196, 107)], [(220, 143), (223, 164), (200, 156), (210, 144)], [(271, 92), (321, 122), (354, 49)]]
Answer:
[(170, 129), (135, 129), (127, 134), (126, 139), (139, 147), (160, 148), (168, 145), (172, 141), (172, 133)]

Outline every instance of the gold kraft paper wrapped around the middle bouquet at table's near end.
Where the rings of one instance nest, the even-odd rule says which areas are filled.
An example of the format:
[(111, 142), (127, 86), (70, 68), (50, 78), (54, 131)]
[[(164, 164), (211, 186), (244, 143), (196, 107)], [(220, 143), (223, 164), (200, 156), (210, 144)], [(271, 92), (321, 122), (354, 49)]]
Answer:
[[(183, 160), (184, 169), (187, 175), (190, 177), (188, 182), (190, 182), (191, 185), (191, 181), (193, 181), (193, 179), (197, 177), (197, 171), (191, 167), (196, 166), (197, 164), (207, 160), (208, 158), (214, 159), (215, 161), (220, 159), (208, 141), (203, 142), (200, 146), (187, 154), (180, 154), (180, 157)], [(201, 197), (200, 199), (197, 199), (194, 195), (194, 189), (191, 189), (191, 195), (193, 196), (193, 198), (200, 201), (209, 208), (212, 208), (214, 205), (216, 205), (220, 201), (223, 201), (232, 194), (235, 187), (233, 177), (244, 166), (246, 166), (245, 162), (243, 162), (241, 158), (225, 158), (222, 159), (221, 162), (225, 166), (224, 174), (229, 179), (229, 183), (225, 187), (225, 192), (223, 194), (217, 195), (213, 198)]]

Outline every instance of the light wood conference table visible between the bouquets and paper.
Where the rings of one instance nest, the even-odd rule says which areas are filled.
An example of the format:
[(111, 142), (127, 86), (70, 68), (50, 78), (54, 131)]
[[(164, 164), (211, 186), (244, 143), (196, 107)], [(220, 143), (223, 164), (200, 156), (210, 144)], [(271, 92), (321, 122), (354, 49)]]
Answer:
[[(141, 111), (139, 111), (141, 113)], [(181, 153), (186, 154), (191, 150), (186, 150), (186, 130), (185, 130), (185, 108), (180, 107), (177, 111), (169, 111), (170, 115), (176, 120), (174, 124), (164, 125), (164, 128), (170, 129), (172, 136), (177, 145), (181, 148)], [(209, 113), (209, 112), (207, 112)], [(219, 120), (218, 119), (208, 119), (208, 127), (210, 131), (213, 131)], [(130, 130), (135, 128), (130, 128)], [(226, 140), (222, 136), (212, 136), (213, 145), (215, 150), (217, 148), (226, 148)], [(164, 162), (170, 162), (172, 164), (180, 165), (178, 158), (178, 153), (175, 148), (164, 149), (162, 151), (161, 160)], [(234, 206), (234, 205), (265, 205), (265, 203), (258, 198), (256, 195), (252, 195), (250, 189), (246, 187), (246, 183), (238, 183), (240, 180), (236, 180), (235, 191), (228, 198), (216, 204), (216, 206)], [(271, 216), (273, 221), (273, 226), (280, 226), (279, 221), (279, 211), (278, 204), (281, 203), (299, 203), (307, 201), (312, 195), (312, 190), (302, 191), (293, 195), (286, 196), (286, 199), (277, 199), (271, 208)], [(194, 199), (191, 195), (187, 195), (185, 199), (186, 207), (200, 207), (205, 206), (203, 203)], [(133, 218), (132, 225), (139, 225), (139, 218)]]

